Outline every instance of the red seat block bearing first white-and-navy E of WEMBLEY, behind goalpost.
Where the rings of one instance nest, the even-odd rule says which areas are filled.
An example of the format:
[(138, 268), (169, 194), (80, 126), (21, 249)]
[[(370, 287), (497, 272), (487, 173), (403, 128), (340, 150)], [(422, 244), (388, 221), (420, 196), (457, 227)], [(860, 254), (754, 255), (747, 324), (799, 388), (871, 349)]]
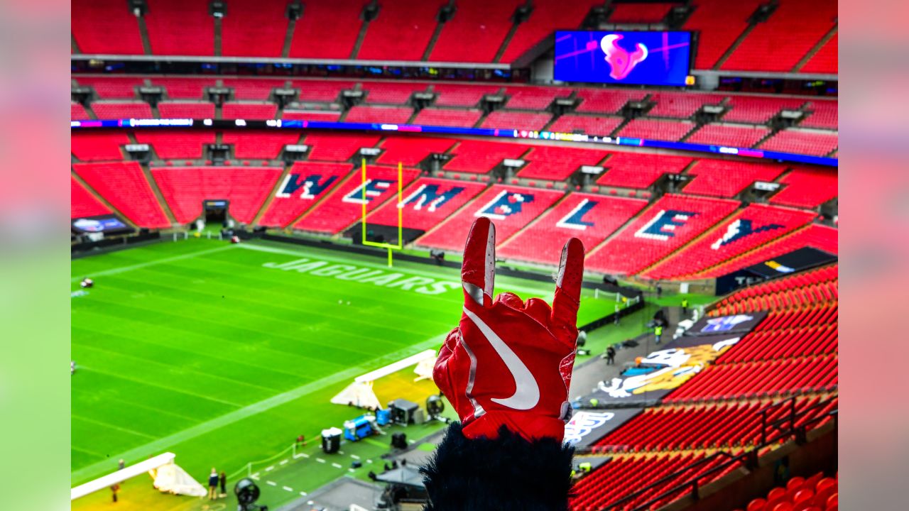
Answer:
[[(409, 185), (417, 175), (419, 175), (419, 171), (405, 168), (401, 185)], [(371, 165), (366, 172), (365, 190), (362, 175), (355, 172), (342, 185), (338, 185), (322, 202), (309, 209), (303, 218), (294, 225), (294, 228), (335, 235), (362, 218), (364, 193), (366, 211), (370, 212), (387, 200), (396, 202), (397, 187), (396, 167)]]

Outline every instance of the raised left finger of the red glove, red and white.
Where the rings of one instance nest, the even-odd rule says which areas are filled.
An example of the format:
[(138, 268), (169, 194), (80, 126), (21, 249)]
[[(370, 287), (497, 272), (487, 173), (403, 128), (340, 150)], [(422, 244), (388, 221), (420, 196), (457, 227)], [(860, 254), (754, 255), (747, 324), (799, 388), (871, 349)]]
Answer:
[(495, 225), (485, 216), (474, 221), (464, 244), (461, 283), (464, 304), (489, 306), (493, 302), (495, 281)]

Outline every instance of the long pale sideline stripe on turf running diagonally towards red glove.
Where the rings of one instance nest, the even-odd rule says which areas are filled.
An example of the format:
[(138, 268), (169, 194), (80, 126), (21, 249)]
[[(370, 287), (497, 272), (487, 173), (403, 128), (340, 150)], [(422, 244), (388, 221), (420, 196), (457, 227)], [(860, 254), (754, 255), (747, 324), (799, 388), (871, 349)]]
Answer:
[[(311, 394), (317, 390), (321, 390), (326, 386), (331, 386), (338, 382), (343, 382), (346, 379), (360, 376), (361, 374), (375, 369), (376, 367), (384, 366), (390, 362), (394, 362), (396, 360), (405, 358), (406, 356), (413, 355), (416, 352), (438, 347), (442, 344), (442, 341), (444, 339), (445, 336), (435, 336), (431, 339), (425, 340), (422, 343), (419, 343), (418, 345), (410, 346), (405, 349), (398, 350), (394, 353), (377, 357), (371, 360), (367, 365), (350, 367), (340, 373), (335, 373), (331, 376), (325, 376), (324, 378), (321, 378), (315, 382), (311, 382), (303, 386), (298, 386), (295, 389), (289, 390), (283, 394), (269, 397), (268, 399), (255, 403), (253, 405), (245, 406), (233, 412), (229, 412), (223, 416), (219, 416), (215, 419), (206, 421), (205, 423), (187, 428), (179, 433), (175, 433), (174, 435), (158, 438), (153, 442), (149, 442), (143, 446), (134, 447), (128, 451), (111, 457), (114, 459), (133, 459), (140, 456), (159, 454), (158, 451), (163, 451), (168, 446), (173, 446), (175, 444), (195, 438), (196, 436), (204, 435), (205, 433), (208, 433), (209, 431), (212, 431), (216, 428), (228, 426), (241, 419), (244, 419), (247, 416), (253, 416), (255, 414), (259, 414), (265, 412), (266, 410), (275, 408), (275, 406), (284, 405), (285, 403), (293, 401), (299, 397), (306, 396), (307, 394)], [(73, 479), (73, 482), (77, 483), (83, 479), (104, 472), (108, 467), (108, 462), (105, 460), (104, 462), (98, 462), (75, 470), (75, 472), (72, 472), (70, 476)]]

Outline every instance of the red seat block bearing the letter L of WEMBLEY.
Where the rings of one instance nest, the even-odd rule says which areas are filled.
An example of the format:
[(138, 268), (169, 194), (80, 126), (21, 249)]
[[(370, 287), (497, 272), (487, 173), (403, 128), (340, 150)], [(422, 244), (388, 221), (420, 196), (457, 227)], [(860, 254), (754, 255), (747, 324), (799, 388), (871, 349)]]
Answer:
[(562, 246), (577, 237), (589, 252), (624, 225), (647, 202), (604, 195), (572, 194), (546, 212), (497, 252), (497, 257), (558, 265)]

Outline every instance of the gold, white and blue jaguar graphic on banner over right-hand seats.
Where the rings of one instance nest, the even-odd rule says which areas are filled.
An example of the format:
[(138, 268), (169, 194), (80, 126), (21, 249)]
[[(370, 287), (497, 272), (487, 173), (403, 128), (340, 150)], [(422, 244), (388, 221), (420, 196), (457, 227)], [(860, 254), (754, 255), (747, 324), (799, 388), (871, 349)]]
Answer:
[(604, 380), (588, 396), (607, 406), (611, 403), (662, 399), (704, 370), (718, 356), (735, 346), (741, 336), (692, 336), (674, 339), (664, 349), (651, 352), (624, 375)]

